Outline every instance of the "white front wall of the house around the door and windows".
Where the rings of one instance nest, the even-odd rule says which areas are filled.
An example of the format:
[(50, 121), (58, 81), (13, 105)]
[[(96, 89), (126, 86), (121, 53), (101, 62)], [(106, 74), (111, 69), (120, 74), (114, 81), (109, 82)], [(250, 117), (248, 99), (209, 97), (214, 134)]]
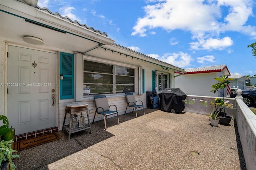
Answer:
[[(57, 55), (57, 63), (59, 64), (59, 51), (61, 52), (66, 52), (66, 53), (74, 53), (73, 51), (67, 51), (65, 49), (57, 49), (55, 47), (46, 47), (44, 45), (42, 46), (36, 46), (36, 45), (28, 45), (27, 43), (24, 42), (18, 42), (16, 40), (11, 40), (8, 38), (4, 38), (4, 37), (0, 37), (1, 38), (1, 51), (0, 51), (0, 84), (4, 84), (4, 83), (8, 83), (7, 81), (7, 57), (6, 57), (6, 52), (7, 52), (7, 47), (8, 45), (15, 45), (15, 46), (20, 46), (20, 47), (26, 47), (26, 48), (30, 48), (30, 49), (36, 49), (36, 50), (41, 50), (41, 51), (51, 51), (51, 52), (55, 52)], [(152, 70), (159, 70), (162, 71), (162, 67), (159, 65), (153, 65), (152, 63), (149, 62), (145, 62), (145, 61), (141, 61), (141, 60), (137, 60), (137, 59), (132, 59), (132, 57), (126, 57), (125, 55), (121, 55), (120, 53), (113, 53), (111, 51), (107, 51), (105, 52), (104, 49), (94, 49), (92, 51), (90, 51), (90, 53), (86, 53), (86, 55), (90, 55), (90, 57), (95, 57), (98, 59), (107, 59), (108, 61), (113, 61), (115, 63), (122, 63), (122, 64), (126, 64), (126, 65), (132, 65), (132, 66), (136, 66), (136, 67), (141, 67), (142, 69), (145, 69), (145, 91), (144, 93), (141, 94), (142, 95), (136, 95), (136, 100), (142, 100), (143, 104), (145, 106), (145, 108), (147, 107), (146, 105), (146, 91), (152, 91)], [(83, 70), (80, 70), (81, 74), (83, 73)], [(170, 71), (166, 71), (163, 70), (165, 73), (170, 73), (172, 75), (172, 80), (170, 82), (172, 82), (172, 84), (170, 85), (170, 87), (174, 87), (174, 70)], [(141, 73), (142, 75), (142, 73)], [(59, 85), (59, 68), (56, 68), (56, 85)], [(138, 87), (138, 82), (139, 80), (139, 75), (138, 75), (138, 69), (136, 72), (136, 86)], [(141, 82), (142, 84), (142, 82)], [(139, 87), (138, 87), (139, 88)], [(138, 88), (137, 88), (137, 93), (138, 93)], [(56, 88), (56, 90), (59, 90)], [(142, 88), (141, 88), (142, 91)], [(7, 105), (8, 105), (8, 101), (7, 101), (7, 93), (6, 93), (6, 87), (4, 86), (0, 86), (0, 114), (1, 115), (6, 115), (8, 117), (8, 110), (7, 110)], [(58, 93), (59, 94), (59, 93)], [(68, 102), (72, 102), (74, 101), (74, 99), (66, 99), (66, 100), (60, 100), (59, 95), (56, 94), (56, 106), (57, 106), (57, 113), (56, 113), (56, 117), (57, 117), (57, 126), (59, 127), (59, 130), (62, 129), (62, 124), (63, 124), (63, 120), (64, 120), (64, 115), (65, 115), (65, 106), (64, 103), (68, 103)], [(90, 116), (90, 121), (92, 122), (93, 120), (93, 116), (94, 116), (94, 112), (95, 112), (95, 105), (94, 105), (94, 100), (93, 97), (91, 97), (90, 99), (86, 99), (84, 100), (85, 102), (89, 103), (89, 110), (92, 110), (92, 113), (89, 113)], [(109, 104), (116, 104), (118, 107), (118, 112), (119, 115), (124, 114), (124, 111), (126, 109), (127, 103), (126, 103), (126, 98), (124, 96), (124, 94), (118, 94), (118, 95), (112, 95), (112, 96), (108, 96), (108, 101)], [(130, 110), (130, 108), (128, 109), (128, 112), (130, 112), (132, 110)], [(99, 121), (102, 120), (103, 116), (102, 115), (96, 115), (95, 121)], [(66, 119), (66, 123), (68, 124), (68, 119)]]

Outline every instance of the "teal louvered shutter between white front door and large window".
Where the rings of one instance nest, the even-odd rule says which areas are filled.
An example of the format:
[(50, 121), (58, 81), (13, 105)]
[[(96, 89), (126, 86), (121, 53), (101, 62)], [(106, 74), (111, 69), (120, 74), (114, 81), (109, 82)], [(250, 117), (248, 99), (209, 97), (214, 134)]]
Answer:
[(74, 54), (60, 52), (60, 99), (74, 99)]

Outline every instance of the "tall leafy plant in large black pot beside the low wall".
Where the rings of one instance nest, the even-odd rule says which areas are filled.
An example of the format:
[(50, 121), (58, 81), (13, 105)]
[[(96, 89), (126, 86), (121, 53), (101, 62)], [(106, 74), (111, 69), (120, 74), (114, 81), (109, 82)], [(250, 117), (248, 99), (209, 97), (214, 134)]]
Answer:
[[(226, 76), (222, 76), (221, 78), (215, 77), (214, 79), (217, 80), (218, 83), (212, 85), (212, 90), (211, 90), (211, 92), (216, 93), (216, 92), (218, 91), (218, 92), (220, 92), (220, 93), (222, 94), (222, 96), (223, 96), (222, 101), (218, 100), (218, 101), (217, 101), (218, 104), (216, 104), (218, 109), (221, 109), (221, 111), (222, 111), (222, 109), (223, 109), (223, 111), (224, 111), (224, 113), (221, 114), (220, 124), (222, 124), (222, 125), (229, 125), (229, 123), (230, 123), (232, 117), (227, 116), (227, 115), (226, 115), (226, 112), (225, 112), (225, 105), (228, 105), (228, 104), (227, 104), (228, 101), (224, 102), (224, 89), (225, 89), (225, 87), (230, 83), (229, 80), (233, 80), (233, 79), (232, 79), (232, 78), (227, 78)], [(223, 89), (223, 91), (222, 91), (221, 89)], [(216, 101), (215, 101), (215, 102), (216, 102)]]

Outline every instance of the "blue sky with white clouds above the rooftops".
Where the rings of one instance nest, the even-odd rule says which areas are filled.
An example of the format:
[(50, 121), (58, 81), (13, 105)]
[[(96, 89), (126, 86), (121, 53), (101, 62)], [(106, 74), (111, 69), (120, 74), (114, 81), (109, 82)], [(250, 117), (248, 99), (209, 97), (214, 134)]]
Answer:
[(187, 69), (226, 64), (231, 75), (255, 75), (256, 1), (38, 0), (106, 32), (115, 43)]

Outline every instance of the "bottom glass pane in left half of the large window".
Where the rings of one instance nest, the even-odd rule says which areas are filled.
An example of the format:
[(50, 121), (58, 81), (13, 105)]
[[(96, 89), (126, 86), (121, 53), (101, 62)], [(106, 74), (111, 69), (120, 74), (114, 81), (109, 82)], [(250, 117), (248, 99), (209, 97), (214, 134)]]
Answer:
[(86, 85), (90, 89), (90, 95), (92, 94), (106, 94), (113, 93), (113, 85)]

